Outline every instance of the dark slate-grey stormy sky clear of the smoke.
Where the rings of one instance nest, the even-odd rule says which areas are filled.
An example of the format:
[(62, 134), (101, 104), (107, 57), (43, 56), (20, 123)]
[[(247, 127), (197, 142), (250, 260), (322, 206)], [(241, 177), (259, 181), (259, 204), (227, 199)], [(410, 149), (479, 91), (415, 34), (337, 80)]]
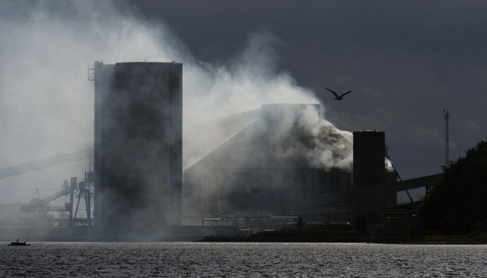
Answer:
[[(168, 24), (196, 59), (225, 64), (250, 33), (280, 38), (279, 66), (325, 103), (344, 130), (386, 132), (403, 178), (444, 160), (443, 108), (451, 112), (450, 160), (487, 138), (487, 2), (133, 1)], [(352, 90), (332, 100), (325, 87)]]

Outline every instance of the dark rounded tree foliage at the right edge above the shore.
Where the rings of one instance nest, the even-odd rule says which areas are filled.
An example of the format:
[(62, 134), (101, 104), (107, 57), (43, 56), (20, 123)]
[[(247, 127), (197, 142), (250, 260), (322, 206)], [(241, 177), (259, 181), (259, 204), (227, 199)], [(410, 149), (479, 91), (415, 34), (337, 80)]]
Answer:
[(487, 230), (487, 142), (444, 168), (420, 207), (424, 230), (470, 232)]

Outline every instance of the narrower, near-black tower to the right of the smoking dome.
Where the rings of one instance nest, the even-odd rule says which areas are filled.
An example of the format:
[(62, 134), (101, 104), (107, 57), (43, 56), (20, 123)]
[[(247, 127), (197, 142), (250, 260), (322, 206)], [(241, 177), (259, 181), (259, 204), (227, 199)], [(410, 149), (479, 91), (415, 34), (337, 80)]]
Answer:
[(353, 206), (359, 231), (385, 228), (385, 133), (354, 132)]

